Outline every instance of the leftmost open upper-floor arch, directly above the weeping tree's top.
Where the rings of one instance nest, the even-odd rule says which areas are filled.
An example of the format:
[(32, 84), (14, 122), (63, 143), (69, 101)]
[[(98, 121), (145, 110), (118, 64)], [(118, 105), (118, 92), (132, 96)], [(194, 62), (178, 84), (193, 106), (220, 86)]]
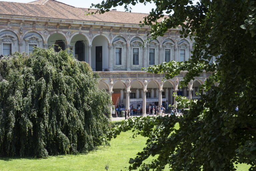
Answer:
[(55, 44), (54, 51), (59, 52), (66, 49), (66, 38), (60, 33), (54, 33), (48, 38), (47, 44), (48, 46)]

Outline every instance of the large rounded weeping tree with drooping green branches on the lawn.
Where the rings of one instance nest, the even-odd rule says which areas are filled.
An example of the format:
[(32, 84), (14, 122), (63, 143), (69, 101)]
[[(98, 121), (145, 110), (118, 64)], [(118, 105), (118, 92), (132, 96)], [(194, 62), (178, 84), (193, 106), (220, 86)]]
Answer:
[(74, 154), (103, 143), (111, 100), (98, 79), (53, 47), (0, 59), (0, 156)]

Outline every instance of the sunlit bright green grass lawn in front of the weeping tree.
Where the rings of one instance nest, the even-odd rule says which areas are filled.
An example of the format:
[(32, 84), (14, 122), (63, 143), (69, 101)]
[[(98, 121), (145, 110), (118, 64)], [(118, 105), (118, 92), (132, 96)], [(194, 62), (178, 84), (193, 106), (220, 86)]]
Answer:
[[(123, 132), (111, 141), (110, 147), (79, 155), (60, 155), (46, 159), (0, 158), (0, 171), (109, 171), (125, 170), (129, 158), (136, 156), (145, 146), (146, 138), (130, 138), (132, 132)], [(238, 171), (248, 170), (247, 165), (238, 165)], [(165, 170), (168, 170), (167, 168)]]

